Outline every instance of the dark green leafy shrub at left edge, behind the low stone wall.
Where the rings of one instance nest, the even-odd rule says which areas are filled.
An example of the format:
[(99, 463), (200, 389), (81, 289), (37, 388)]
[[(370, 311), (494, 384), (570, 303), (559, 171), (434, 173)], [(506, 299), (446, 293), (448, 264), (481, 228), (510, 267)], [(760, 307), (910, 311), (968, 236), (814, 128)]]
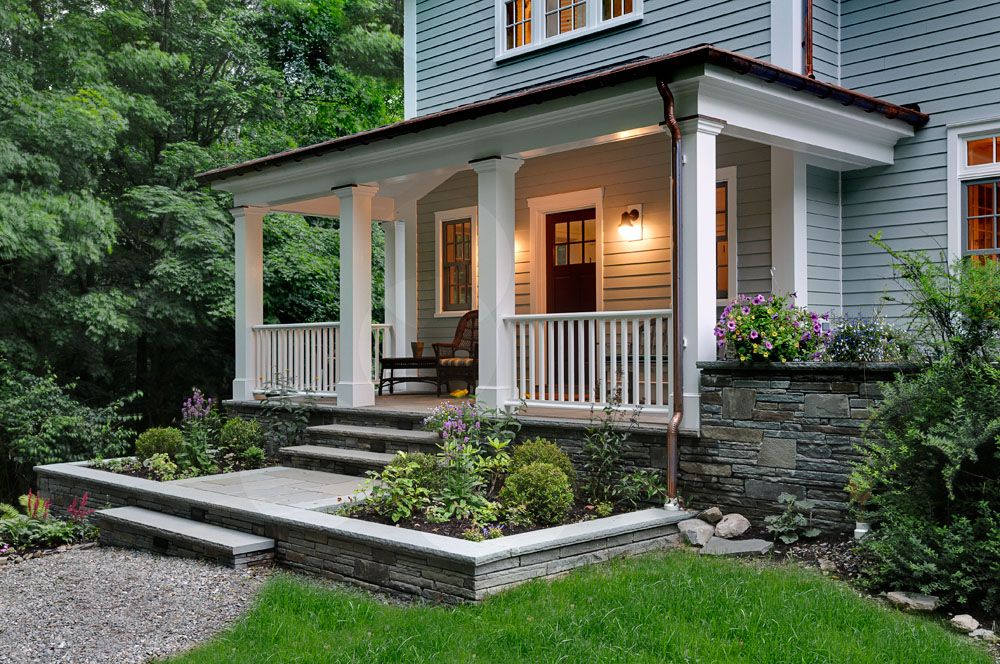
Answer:
[(136, 395), (93, 408), (72, 398), (73, 388), (0, 357), (0, 500), (26, 491), (34, 466), (116, 457), (128, 449), (137, 418), (121, 410)]

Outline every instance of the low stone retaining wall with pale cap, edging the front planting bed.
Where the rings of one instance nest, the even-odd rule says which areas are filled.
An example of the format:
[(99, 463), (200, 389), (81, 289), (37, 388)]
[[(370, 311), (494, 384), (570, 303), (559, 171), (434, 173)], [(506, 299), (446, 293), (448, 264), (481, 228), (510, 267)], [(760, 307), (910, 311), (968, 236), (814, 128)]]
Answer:
[(679, 544), (690, 515), (649, 509), (486, 542), (395, 528), (89, 468), (36, 468), (39, 493), (65, 507), (146, 509), (275, 540), (275, 561), (371, 590), (448, 603), (478, 601), (529, 579)]

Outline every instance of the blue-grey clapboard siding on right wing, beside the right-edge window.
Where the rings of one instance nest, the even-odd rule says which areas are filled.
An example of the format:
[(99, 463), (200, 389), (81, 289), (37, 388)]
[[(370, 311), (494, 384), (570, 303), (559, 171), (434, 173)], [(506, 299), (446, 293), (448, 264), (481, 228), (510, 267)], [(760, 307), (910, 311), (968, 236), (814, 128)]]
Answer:
[[(1000, 119), (1000, 13), (989, 1), (845, 0), (841, 36), (845, 86), (931, 114), (893, 166), (844, 174), (844, 305), (868, 314), (903, 296), (871, 234), (935, 256), (947, 246), (946, 128)], [(885, 312), (897, 317), (902, 305)]]

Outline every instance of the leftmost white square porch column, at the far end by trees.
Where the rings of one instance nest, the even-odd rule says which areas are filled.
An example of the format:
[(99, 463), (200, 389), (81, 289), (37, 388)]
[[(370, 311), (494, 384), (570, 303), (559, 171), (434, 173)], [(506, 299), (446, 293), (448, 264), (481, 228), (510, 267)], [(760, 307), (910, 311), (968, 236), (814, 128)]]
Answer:
[[(258, 367), (253, 326), (264, 322), (264, 215), (266, 208), (230, 210), (236, 234), (236, 376), (233, 399), (253, 399)], [(268, 378), (265, 376), (265, 378)]]

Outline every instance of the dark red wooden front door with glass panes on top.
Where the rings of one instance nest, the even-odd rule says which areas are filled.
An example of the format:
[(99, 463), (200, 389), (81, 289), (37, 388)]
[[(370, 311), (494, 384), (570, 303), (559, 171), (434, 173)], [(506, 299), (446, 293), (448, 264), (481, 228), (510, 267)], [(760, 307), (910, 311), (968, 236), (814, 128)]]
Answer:
[(597, 311), (597, 211), (545, 215), (545, 248), (547, 312)]

